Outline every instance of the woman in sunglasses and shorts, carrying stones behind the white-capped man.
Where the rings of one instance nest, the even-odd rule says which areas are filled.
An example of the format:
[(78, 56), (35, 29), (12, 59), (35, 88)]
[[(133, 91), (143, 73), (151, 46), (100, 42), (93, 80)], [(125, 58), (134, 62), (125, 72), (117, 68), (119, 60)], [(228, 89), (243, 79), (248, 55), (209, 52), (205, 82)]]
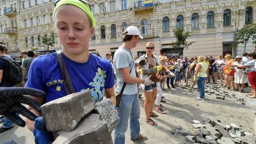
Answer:
[[(154, 51), (154, 44), (152, 42), (146, 43), (145, 51), (146, 54), (143, 56), (140, 56), (139, 59), (146, 59), (147, 63), (146, 65), (143, 66), (138, 66), (138, 69), (148, 69), (148, 68), (153, 68), (154, 66), (162, 66), (161, 63), (158, 60), (158, 57), (153, 55)], [(148, 75), (140, 75), (140, 78), (146, 78)], [(157, 94), (157, 89), (156, 89), (156, 84), (152, 85), (142, 85), (142, 89), (144, 90), (144, 95), (145, 95), (145, 103), (144, 103), (144, 110), (146, 114), (146, 122), (151, 124), (152, 126), (156, 126), (157, 124), (155, 121), (151, 119), (151, 117), (158, 117), (158, 114), (153, 113), (153, 106), (155, 104), (156, 100), (156, 94)]]

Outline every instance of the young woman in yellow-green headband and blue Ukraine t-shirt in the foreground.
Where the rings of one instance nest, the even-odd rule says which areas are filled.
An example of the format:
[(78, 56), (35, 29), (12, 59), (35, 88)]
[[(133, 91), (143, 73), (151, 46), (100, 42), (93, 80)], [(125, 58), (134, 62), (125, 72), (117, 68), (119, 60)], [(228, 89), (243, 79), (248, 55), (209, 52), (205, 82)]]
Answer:
[[(116, 104), (114, 97), (114, 78), (111, 63), (101, 57), (89, 53), (89, 40), (94, 35), (96, 26), (94, 15), (87, 2), (82, 0), (60, 0), (55, 2), (53, 11), (55, 26), (60, 43), (62, 57), (72, 78), (76, 92), (91, 91), (95, 102), (110, 98)], [(28, 82), (25, 87), (40, 89), (46, 92), (46, 97), (32, 97), (39, 103), (47, 103), (60, 97), (65, 97), (64, 80), (57, 62), (56, 53), (37, 57), (30, 67)], [(34, 114), (41, 116), (32, 107)], [(42, 122), (40, 117), (36, 124)], [(34, 129), (34, 121), (27, 120), (28, 128), (34, 132), (36, 143), (50, 141), (45, 130)]]

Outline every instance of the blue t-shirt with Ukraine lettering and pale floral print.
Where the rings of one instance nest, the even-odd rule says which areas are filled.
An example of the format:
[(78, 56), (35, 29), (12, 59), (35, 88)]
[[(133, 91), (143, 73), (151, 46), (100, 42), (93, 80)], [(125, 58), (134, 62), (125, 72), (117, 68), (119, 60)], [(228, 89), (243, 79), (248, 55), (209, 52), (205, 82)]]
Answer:
[[(63, 54), (62, 56), (75, 91), (89, 90), (94, 101), (103, 100), (104, 88), (114, 86), (113, 69), (110, 62), (92, 53), (85, 63), (77, 63)], [(25, 87), (46, 92), (46, 103), (66, 95), (56, 53), (41, 55), (33, 60)]]

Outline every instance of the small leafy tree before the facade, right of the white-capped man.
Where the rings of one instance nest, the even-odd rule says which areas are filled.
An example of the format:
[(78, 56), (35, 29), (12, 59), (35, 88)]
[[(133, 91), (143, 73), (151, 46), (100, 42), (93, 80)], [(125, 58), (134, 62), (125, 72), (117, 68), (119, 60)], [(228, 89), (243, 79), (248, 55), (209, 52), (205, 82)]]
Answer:
[(183, 28), (175, 28), (174, 30), (172, 30), (172, 32), (174, 33), (176, 39), (175, 42), (171, 43), (171, 46), (173, 46), (174, 48), (188, 49), (188, 46), (194, 43), (194, 41), (191, 41), (190, 43), (188, 43), (187, 41), (188, 37), (190, 37), (190, 31), (184, 31)]

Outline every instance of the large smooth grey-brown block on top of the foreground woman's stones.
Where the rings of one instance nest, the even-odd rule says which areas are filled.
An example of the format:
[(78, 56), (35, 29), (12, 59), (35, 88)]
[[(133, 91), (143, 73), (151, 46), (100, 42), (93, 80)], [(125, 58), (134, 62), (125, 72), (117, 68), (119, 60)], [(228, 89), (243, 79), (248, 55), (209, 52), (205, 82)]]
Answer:
[(41, 106), (46, 128), (51, 132), (75, 129), (82, 117), (94, 109), (91, 92), (76, 92)]

